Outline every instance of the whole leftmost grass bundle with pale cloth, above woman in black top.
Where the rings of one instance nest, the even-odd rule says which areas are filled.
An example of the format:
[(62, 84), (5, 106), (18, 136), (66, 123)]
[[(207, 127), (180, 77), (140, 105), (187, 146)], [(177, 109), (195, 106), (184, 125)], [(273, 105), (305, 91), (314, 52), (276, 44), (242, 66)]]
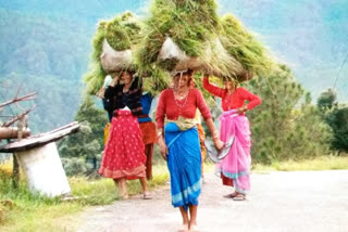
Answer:
[(85, 75), (88, 93), (98, 92), (107, 74), (134, 68), (132, 50), (140, 39), (140, 30), (141, 22), (130, 12), (99, 22), (89, 70)]

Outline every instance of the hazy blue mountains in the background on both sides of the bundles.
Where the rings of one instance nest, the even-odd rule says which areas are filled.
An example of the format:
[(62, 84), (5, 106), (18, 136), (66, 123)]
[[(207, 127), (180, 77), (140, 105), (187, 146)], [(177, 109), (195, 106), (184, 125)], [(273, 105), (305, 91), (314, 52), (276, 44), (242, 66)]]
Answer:
[[(0, 0), (0, 90), (1, 82), (16, 81), (39, 91), (37, 131), (71, 121), (98, 21), (124, 11), (144, 14), (148, 3)], [(347, 0), (219, 0), (219, 5), (220, 14), (235, 14), (288, 64), (314, 101), (336, 78), (339, 101), (348, 101)]]

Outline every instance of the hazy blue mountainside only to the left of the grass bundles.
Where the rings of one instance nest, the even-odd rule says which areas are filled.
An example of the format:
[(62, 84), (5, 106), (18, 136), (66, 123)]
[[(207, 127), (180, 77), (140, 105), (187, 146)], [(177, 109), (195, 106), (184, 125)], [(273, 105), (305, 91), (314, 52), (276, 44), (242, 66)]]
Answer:
[(0, 102), (24, 85), (21, 93), (38, 92), (29, 116), (34, 133), (72, 121), (98, 21), (134, 5), (139, 1), (0, 0)]

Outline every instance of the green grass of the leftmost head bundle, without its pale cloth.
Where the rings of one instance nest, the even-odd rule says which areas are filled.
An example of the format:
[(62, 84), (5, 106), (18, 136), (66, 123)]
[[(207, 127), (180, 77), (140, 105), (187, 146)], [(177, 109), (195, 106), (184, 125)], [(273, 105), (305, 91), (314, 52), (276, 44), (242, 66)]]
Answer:
[(99, 22), (97, 33), (92, 40), (94, 51), (89, 65), (89, 72), (85, 75), (87, 91), (95, 94), (103, 83), (107, 73), (102, 68), (100, 56), (103, 52), (103, 42), (108, 41), (110, 47), (116, 51), (133, 49), (139, 42), (141, 22), (130, 12), (116, 16), (112, 21)]

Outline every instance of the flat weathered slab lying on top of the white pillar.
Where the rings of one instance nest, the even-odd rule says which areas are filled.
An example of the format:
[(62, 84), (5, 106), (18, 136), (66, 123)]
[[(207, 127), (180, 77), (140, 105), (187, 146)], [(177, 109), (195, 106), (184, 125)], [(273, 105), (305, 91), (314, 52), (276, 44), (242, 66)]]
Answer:
[(2, 153), (16, 153), (22, 152), (30, 149), (35, 149), (38, 146), (42, 146), (45, 144), (48, 144), (50, 142), (57, 141), (70, 133), (77, 132), (79, 129), (79, 125), (77, 121), (71, 123), (66, 126), (63, 126), (61, 128), (58, 128), (55, 130), (40, 133), (37, 136), (28, 137), (26, 139), (23, 139), (22, 141), (13, 142), (10, 144), (5, 144), (0, 147), (0, 152)]

